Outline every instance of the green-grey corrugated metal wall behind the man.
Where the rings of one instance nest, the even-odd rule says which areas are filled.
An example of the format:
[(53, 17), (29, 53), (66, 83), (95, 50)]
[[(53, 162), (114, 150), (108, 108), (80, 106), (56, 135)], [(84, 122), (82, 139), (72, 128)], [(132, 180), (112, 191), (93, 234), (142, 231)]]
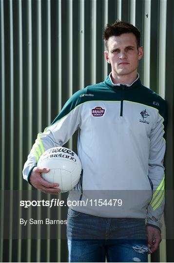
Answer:
[[(38, 239), (21, 239), (20, 228), (18, 240), (13, 238), (14, 209), (18, 218), (22, 213), (13, 195), (16, 191), (21, 200), (21, 190), (28, 190), (31, 197), (31, 186), (23, 181), (21, 171), (37, 133), (50, 124), (71, 94), (102, 81), (110, 72), (103, 56), (102, 32), (107, 22), (116, 19), (140, 29), (144, 46), (141, 80), (168, 99), (166, 188), (172, 199), (169, 205), (167, 196), (163, 235), (174, 232), (169, 226), (174, 222), (173, 11), (173, 0), (0, 0), (0, 262), (67, 261), (60, 226), (57, 240), (52, 240), (49, 232), (48, 238), (41, 240), (39, 227)], [(67, 147), (76, 150), (76, 138), (75, 134)], [(4, 190), (9, 190), (8, 209)], [(39, 200), (43, 196), (37, 193)], [(66, 199), (66, 194), (61, 199)], [(63, 213), (60, 208), (58, 213)], [(8, 239), (3, 239), (7, 224)], [(149, 260), (172, 262), (173, 244), (174, 240), (167, 238), (166, 250), (163, 239)]]

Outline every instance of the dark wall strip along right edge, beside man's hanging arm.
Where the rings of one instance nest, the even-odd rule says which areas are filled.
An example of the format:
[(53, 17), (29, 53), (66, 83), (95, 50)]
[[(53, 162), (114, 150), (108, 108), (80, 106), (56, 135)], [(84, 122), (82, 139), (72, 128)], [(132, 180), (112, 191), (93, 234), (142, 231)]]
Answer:
[(166, 99), (168, 102), (168, 129), (166, 152), (166, 255), (174, 261), (174, 1), (167, 1), (166, 20)]

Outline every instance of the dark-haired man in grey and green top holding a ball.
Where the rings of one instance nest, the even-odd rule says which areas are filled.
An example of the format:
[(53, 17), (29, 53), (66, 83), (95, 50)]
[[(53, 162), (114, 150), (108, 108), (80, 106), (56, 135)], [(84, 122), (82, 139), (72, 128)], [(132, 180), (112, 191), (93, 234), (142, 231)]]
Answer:
[(166, 103), (140, 82), (138, 29), (122, 21), (107, 24), (104, 41), (111, 74), (66, 102), (39, 133), (23, 175), (43, 192), (58, 193), (58, 184), (41, 178), (48, 169), (37, 167), (38, 156), (78, 129), (83, 174), (68, 199), (85, 205), (68, 211), (69, 261), (147, 262), (161, 241)]

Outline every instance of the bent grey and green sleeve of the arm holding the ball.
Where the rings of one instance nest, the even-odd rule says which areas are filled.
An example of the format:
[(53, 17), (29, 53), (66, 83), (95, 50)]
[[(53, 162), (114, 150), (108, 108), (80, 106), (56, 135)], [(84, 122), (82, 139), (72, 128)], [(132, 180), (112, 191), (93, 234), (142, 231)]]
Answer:
[(23, 168), (23, 178), (29, 182), (32, 169), (37, 166), (41, 154), (50, 148), (61, 147), (80, 126), (80, 113), (77, 98), (74, 94), (64, 105), (52, 124), (40, 132)]

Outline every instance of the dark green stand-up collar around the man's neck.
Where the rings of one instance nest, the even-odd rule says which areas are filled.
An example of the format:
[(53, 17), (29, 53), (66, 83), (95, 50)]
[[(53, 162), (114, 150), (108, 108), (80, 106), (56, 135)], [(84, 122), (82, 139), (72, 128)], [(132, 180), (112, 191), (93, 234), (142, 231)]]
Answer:
[(139, 79), (139, 74), (137, 73), (137, 78), (133, 81), (132, 84), (115, 84), (111, 79), (111, 73), (105, 79), (105, 85), (108, 86), (110, 89), (116, 90), (132, 90), (141, 86), (141, 81)]

